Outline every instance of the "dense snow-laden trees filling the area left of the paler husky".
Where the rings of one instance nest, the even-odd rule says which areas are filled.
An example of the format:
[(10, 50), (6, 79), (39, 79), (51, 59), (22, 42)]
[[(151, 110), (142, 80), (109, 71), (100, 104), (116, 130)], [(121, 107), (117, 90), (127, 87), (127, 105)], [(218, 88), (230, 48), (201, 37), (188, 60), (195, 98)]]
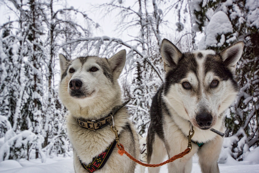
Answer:
[[(55, 11), (55, 1), (1, 3), (18, 19), (0, 27), (0, 161), (67, 155), (72, 147), (57, 97), (55, 56), (60, 42), (90, 34), (71, 16), (91, 20), (73, 8)], [(73, 49), (63, 48), (69, 57)]]

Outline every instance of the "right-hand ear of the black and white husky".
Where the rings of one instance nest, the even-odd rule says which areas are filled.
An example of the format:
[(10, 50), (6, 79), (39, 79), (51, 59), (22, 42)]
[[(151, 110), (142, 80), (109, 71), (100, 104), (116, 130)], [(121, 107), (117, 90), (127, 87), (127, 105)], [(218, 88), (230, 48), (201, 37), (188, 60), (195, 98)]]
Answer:
[(224, 64), (232, 71), (235, 72), (236, 63), (241, 58), (244, 48), (244, 42), (238, 41), (223, 51), (220, 52)]

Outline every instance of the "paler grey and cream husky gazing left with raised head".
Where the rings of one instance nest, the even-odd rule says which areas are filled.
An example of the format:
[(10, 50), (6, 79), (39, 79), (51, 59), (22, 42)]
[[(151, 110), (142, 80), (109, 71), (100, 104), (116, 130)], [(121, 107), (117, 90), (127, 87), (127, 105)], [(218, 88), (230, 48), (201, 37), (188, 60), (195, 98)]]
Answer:
[[(109, 59), (87, 56), (69, 60), (62, 54), (59, 58), (59, 96), (68, 109), (67, 131), (73, 146), (74, 169), (76, 173), (86, 173), (88, 171), (82, 163), (92, 163), (93, 158), (105, 153), (106, 148), (114, 142), (115, 134), (111, 131), (111, 125), (92, 130), (81, 127), (78, 120), (95, 122), (107, 117), (113, 108), (121, 105), (121, 89), (117, 79), (125, 65), (126, 51), (121, 50)], [(138, 158), (138, 135), (128, 117), (126, 108), (122, 107), (114, 115), (114, 125), (118, 130), (119, 142)], [(96, 172), (133, 173), (135, 163), (117, 151), (115, 147), (105, 165)]]

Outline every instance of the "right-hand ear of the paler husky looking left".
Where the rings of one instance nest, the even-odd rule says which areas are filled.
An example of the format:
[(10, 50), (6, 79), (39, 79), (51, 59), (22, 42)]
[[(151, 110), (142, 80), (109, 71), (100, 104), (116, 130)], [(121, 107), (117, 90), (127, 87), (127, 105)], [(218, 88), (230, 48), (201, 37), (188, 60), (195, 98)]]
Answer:
[(113, 57), (108, 59), (109, 64), (111, 65), (111, 70), (113, 73), (113, 78), (119, 78), (121, 71), (125, 65), (126, 61), (126, 50), (123, 49), (120, 52), (113, 55)]

